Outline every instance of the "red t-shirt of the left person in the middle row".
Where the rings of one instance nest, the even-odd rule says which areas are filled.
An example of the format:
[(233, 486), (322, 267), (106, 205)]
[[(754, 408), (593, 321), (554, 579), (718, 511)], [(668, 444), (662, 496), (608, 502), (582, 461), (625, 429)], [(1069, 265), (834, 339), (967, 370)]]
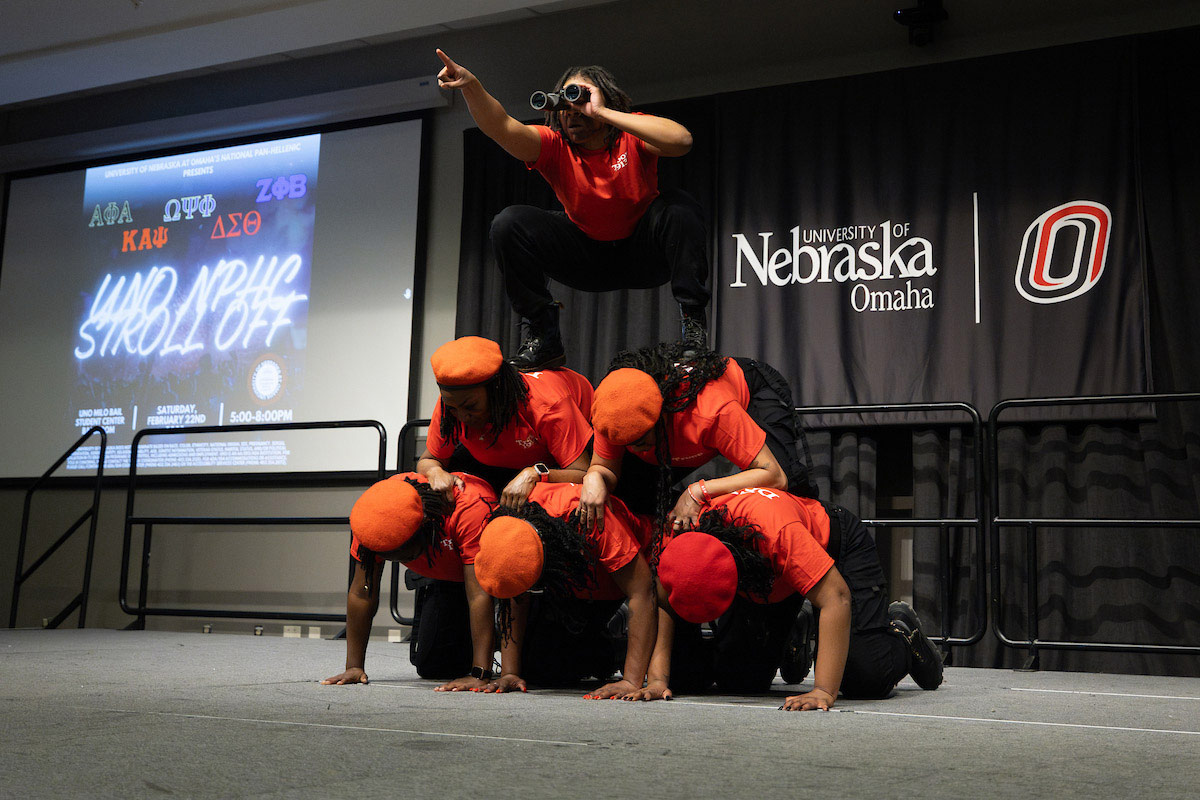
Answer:
[[(490, 444), (490, 428), (464, 428), (462, 444), (481, 464), (523, 469), (538, 462), (568, 467), (592, 441), (592, 384), (571, 369), (544, 369), (521, 374), (529, 387), (528, 402)], [(442, 437), (442, 401), (433, 407), (428, 438), (430, 455), (445, 463), (454, 443)]]

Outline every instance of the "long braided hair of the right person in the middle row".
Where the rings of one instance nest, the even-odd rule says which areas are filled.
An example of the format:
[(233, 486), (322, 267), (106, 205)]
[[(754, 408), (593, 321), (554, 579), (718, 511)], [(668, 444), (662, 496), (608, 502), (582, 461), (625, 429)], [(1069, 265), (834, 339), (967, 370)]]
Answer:
[(662, 392), (662, 414), (654, 423), (654, 459), (659, 465), (659, 486), (655, 494), (652, 566), (658, 565), (659, 551), (667, 528), (667, 513), (671, 511), (668, 415), (695, 403), (700, 390), (725, 374), (726, 365), (724, 355), (684, 342), (660, 342), (637, 350), (622, 350), (608, 365), (608, 372), (625, 367), (641, 369), (654, 378), (659, 391)]

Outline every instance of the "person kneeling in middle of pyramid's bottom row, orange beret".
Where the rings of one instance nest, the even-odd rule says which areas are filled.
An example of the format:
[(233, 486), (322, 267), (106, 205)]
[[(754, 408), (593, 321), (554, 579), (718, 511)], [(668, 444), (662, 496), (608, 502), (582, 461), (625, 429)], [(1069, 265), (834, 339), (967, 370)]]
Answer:
[(588, 699), (634, 699), (656, 636), (654, 578), (641, 551), (648, 524), (612, 500), (604, 529), (580, 530), (580, 487), (541, 485), (518, 510), (497, 509), (475, 558), (480, 585), (500, 600), (500, 676), (484, 691), (607, 681), (619, 652), (608, 634), (629, 601), (622, 679)]

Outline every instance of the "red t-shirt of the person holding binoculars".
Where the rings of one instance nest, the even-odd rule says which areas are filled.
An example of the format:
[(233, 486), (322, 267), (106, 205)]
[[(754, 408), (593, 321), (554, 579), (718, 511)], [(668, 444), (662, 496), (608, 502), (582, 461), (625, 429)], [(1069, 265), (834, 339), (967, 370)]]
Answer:
[(541, 151), (526, 167), (541, 173), (570, 221), (596, 241), (628, 239), (659, 196), (659, 157), (632, 133), (622, 132), (612, 150), (584, 150), (545, 125), (533, 127)]

